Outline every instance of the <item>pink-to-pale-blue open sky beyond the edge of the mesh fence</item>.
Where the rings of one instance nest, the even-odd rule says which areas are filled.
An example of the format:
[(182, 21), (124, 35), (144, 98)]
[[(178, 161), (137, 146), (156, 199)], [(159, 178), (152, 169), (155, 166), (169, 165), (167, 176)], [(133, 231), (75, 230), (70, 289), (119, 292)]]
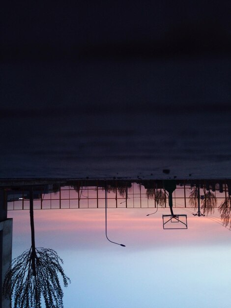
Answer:
[[(108, 236), (126, 247), (106, 240), (103, 209), (35, 210), (36, 246), (55, 249), (71, 279), (64, 307), (228, 308), (230, 231), (176, 210), (188, 215), (187, 230), (163, 230), (163, 210), (108, 209)], [(15, 257), (30, 246), (29, 212), (8, 217)]]

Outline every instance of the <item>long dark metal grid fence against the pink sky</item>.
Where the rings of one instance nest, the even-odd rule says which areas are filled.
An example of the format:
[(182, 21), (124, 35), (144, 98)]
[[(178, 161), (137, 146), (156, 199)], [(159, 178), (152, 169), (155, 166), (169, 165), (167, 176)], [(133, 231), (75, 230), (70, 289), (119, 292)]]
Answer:
[[(200, 188), (201, 201), (206, 193), (206, 185)], [(107, 200), (109, 208), (156, 208), (156, 191), (162, 189), (165, 199), (163, 207), (168, 206), (168, 193), (164, 188), (154, 188), (152, 195), (147, 197), (148, 188), (139, 183), (124, 186), (108, 186)], [(177, 185), (173, 191), (173, 207), (190, 207), (190, 194), (195, 187), (190, 185)], [(216, 185), (213, 194), (217, 199), (217, 207), (228, 196), (228, 186), (223, 184), (219, 190)], [(150, 192), (150, 190), (149, 190)], [(28, 187), (17, 190), (8, 190), (6, 197), (7, 210), (29, 210)], [(42, 185), (33, 189), (34, 209), (90, 209), (105, 207), (105, 188), (99, 185), (72, 186), (72, 185)]]

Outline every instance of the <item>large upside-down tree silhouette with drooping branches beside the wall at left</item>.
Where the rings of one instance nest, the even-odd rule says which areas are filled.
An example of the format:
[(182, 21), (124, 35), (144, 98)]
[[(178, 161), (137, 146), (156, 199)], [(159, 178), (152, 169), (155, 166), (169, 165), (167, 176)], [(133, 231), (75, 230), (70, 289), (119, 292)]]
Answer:
[(32, 190), (29, 201), (31, 247), (12, 261), (12, 268), (5, 275), (2, 294), (10, 300), (10, 308), (41, 308), (42, 297), (46, 308), (63, 308), (58, 275), (65, 287), (70, 279), (64, 274), (60, 265), (62, 259), (55, 250), (35, 247)]

